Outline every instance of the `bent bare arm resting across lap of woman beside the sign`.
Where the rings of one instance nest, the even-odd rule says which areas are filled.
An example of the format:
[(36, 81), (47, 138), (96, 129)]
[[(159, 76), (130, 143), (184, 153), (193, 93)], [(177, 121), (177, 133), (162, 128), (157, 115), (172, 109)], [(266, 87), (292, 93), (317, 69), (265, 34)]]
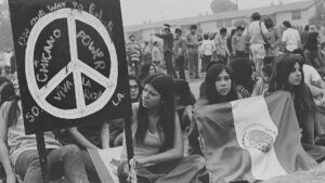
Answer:
[(180, 119), (178, 114), (174, 115), (174, 140), (173, 140), (173, 147), (171, 149), (168, 149), (166, 152), (148, 156), (144, 159), (136, 159), (138, 162), (142, 165), (146, 164), (159, 164), (159, 162), (166, 162), (174, 159), (180, 159), (183, 157), (184, 154), (184, 144), (183, 144), (183, 135), (180, 125)]

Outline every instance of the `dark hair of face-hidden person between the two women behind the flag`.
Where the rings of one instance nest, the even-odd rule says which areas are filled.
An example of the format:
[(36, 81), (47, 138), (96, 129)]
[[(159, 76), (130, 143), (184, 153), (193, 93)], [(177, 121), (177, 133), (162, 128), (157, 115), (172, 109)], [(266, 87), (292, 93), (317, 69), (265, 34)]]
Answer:
[(243, 86), (249, 93), (253, 89), (252, 64), (246, 58), (235, 58), (231, 62), (231, 68), (233, 70), (233, 82), (235, 86)]

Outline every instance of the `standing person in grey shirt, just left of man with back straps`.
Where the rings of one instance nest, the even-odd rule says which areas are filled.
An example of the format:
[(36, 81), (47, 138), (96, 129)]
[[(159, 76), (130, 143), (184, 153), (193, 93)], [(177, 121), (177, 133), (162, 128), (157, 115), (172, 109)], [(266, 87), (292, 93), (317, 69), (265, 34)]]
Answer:
[(246, 38), (243, 36), (243, 27), (238, 26), (235, 35), (232, 37), (232, 47), (234, 57), (248, 57), (245, 53)]

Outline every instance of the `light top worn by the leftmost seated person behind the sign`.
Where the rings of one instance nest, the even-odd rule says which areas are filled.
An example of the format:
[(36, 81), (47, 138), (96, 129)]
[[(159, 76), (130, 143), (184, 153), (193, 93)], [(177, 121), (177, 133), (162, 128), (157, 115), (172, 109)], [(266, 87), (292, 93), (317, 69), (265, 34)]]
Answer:
[[(2, 104), (0, 109), (0, 122), (6, 122), (6, 115), (12, 102), (5, 102)], [(18, 156), (27, 149), (37, 149), (36, 135), (25, 134), (25, 126), (22, 114), (21, 102), (18, 106), (21, 108), (21, 115), (18, 117), (17, 123), (15, 126), (8, 128), (8, 147), (10, 160), (13, 166), (15, 166)], [(52, 132), (44, 132), (44, 141), (47, 148), (60, 148), (62, 145), (54, 139)]]

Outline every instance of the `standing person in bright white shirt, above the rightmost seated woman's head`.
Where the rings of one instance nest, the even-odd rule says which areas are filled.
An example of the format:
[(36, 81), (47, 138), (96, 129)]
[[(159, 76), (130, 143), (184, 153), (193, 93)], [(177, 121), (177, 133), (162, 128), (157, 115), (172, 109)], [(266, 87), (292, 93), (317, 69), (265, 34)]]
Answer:
[(282, 42), (285, 45), (286, 53), (294, 53), (301, 47), (299, 31), (294, 29), (290, 22), (284, 21), (284, 31), (282, 35)]

